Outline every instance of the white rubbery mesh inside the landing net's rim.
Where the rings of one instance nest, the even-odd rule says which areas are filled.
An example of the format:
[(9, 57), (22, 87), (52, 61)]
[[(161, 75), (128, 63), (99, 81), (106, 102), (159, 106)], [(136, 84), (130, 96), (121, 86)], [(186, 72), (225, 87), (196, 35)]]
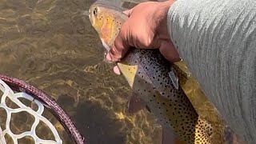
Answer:
[[(47, 119), (42, 116), (42, 113), (44, 111), (44, 106), (42, 105), (41, 102), (38, 100), (34, 99), (32, 96), (29, 94), (19, 92), (19, 93), (14, 93), (13, 90), (10, 89), (10, 87), (3, 82), (0, 79), (0, 90), (2, 90), (2, 98), (1, 98), (1, 103), (0, 103), (0, 108), (3, 108), (6, 110), (7, 118), (6, 118), (6, 128), (5, 130), (1, 128), (0, 126), (0, 143), (1, 144), (6, 144), (6, 139), (5, 139), (5, 134), (8, 134), (10, 138), (12, 138), (14, 144), (18, 144), (18, 139), (23, 138), (26, 136), (30, 136), (31, 138), (34, 139), (34, 143), (46, 143), (46, 144), (59, 144), (62, 143), (62, 139), (60, 138), (58, 131), (55, 129), (55, 127), (52, 125), (52, 123)], [(12, 102), (14, 102), (18, 108), (10, 108), (6, 106), (6, 98), (9, 98)], [(34, 101), (36, 105), (38, 106), (38, 110), (34, 111), (31, 107), (24, 105), (18, 98), (26, 98), (29, 101)], [(20, 112), (27, 112), (31, 115), (34, 116), (34, 123), (31, 126), (30, 131), (25, 131), (22, 134), (14, 134), (10, 130), (10, 120), (11, 120), (11, 115), (14, 113), (20, 113)], [(44, 122), (46, 126), (49, 127), (51, 132), (54, 134), (54, 139), (55, 140), (44, 140), (41, 138), (38, 138), (38, 135), (36, 134), (36, 127), (38, 126), (39, 122)]]

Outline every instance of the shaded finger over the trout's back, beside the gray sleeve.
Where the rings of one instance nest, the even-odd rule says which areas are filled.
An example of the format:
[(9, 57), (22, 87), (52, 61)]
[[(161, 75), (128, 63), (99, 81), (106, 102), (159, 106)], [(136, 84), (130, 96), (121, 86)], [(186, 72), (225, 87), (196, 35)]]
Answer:
[(170, 40), (162, 41), (159, 51), (170, 62), (178, 62), (180, 60), (178, 51)]

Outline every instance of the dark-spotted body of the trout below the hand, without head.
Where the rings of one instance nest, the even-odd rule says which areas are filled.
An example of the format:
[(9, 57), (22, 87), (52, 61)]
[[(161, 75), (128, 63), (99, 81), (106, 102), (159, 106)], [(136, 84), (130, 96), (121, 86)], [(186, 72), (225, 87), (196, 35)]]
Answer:
[[(138, 57), (138, 54), (141, 55)], [(158, 64), (155, 65), (155, 62)], [(158, 50), (132, 50), (122, 62), (119, 62), (120, 70), (127, 69), (128, 63), (130, 66), (138, 65), (136, 74), (134, 69), (128, 68), (130, 74), (135, 75), (134, 82), (130, 83), (130, 86), (147, 103), (162, 126), (170, 127), (177, 134), (182, 135), (186, 142), (210, 143), (208, 140), (211, 134), (210, 124), (198, 118), (183, 90), (181, 88), (176, 90), (171, 84), (168, 76), (168, 71), (171, 70), (170, 64), (162, 58)], [(163, 80), (160, 80), (158, 75)], [(164, 83), (161, 84), (162, 81)]]

